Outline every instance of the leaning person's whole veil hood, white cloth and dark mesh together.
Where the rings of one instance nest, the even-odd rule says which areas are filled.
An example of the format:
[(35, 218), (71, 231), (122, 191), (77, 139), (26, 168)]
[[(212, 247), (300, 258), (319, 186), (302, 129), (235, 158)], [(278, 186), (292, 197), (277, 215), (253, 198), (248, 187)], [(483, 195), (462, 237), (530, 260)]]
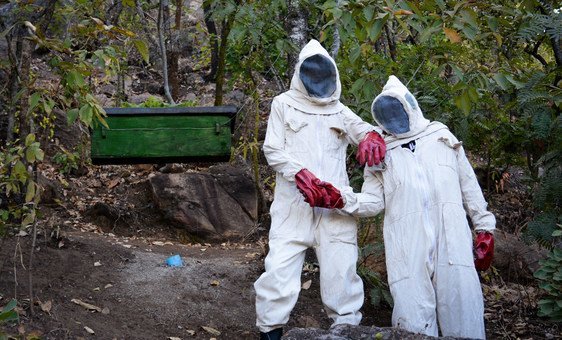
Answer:
[(390, 76), (371, 106), (373, 119), (396, 138), (416, 136), (429, 125), (416, 98), (395, 76)]

